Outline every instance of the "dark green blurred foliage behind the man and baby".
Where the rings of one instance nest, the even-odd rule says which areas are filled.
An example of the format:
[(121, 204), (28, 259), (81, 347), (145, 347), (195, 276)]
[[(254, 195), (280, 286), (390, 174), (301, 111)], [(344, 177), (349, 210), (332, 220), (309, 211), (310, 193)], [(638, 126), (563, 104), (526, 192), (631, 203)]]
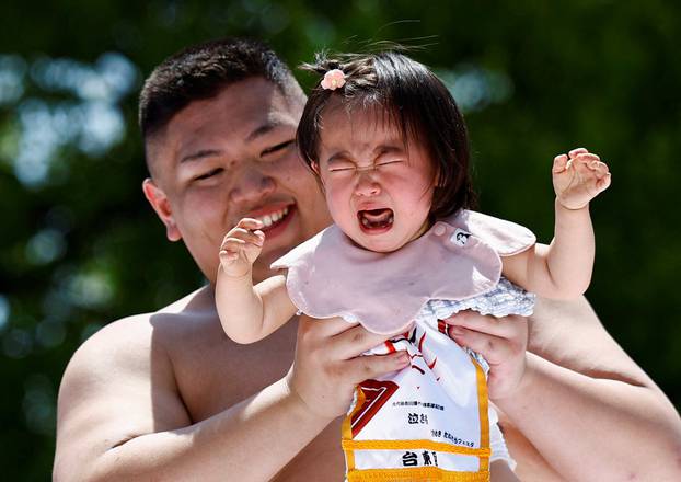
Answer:
[[(681, 4), (610, 0), (5, 0), (0, 20), (0, 466), (47, 480), (61, 374), (105, 323), (203, 283), (142, 197), (136, 104), (175, 50), (267, 39), (292, 65), (369, 41), (425, 46), (463, 107), (483, 210), (553, 230), (551, 160), (613, 171), (588, 298), (679, 406)], [(309, 84), (310, 79), (301, 79)]]

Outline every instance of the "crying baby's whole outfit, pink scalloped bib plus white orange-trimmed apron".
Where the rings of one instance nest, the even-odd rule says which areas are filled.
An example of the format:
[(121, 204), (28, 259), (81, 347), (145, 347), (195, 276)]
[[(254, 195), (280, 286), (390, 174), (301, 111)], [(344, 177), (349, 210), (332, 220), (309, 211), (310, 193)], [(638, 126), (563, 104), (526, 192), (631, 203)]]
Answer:
[(488, 481), (490, 447), (508, 452), (496, 423), (490, 431), (487, 364), (441, 320), (464, 309), (531, 314), (533, 295), (500, 277), (499, 256), (534, 241), (518, 225), (462, 210), (397, 252), (363, 250), (331, 227), (273, 264), (289, 269), (289, 296), (305, 314), (404, 331), (368, 353), (406, 351), (412, 364), (357, 388), (343, 424), (349, 482)]

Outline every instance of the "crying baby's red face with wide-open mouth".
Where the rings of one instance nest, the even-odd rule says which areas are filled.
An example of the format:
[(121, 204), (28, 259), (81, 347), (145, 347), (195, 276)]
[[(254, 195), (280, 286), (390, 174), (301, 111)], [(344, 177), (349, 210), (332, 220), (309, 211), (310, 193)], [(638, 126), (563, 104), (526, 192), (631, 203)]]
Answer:
[(416, 141), (374, 110), (324, 110), (319, 175), (334, 222), (357, 244), (399, 250), (428, 228), (432, 163)]

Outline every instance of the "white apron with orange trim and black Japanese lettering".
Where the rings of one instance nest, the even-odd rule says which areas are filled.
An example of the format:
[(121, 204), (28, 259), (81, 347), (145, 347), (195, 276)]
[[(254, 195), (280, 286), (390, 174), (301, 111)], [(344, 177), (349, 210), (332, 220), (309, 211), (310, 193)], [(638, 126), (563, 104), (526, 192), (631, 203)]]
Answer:
[(409, 367), (356, 389), (343, 423), (347, 480), (488, 481), (489, 421), (484, 363), (418, 321), (372, 354), (404, 349)]

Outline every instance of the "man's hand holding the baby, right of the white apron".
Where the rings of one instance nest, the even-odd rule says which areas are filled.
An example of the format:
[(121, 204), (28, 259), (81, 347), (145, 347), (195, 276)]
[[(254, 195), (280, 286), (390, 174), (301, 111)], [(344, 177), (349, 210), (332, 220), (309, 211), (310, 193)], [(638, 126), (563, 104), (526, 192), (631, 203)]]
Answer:
[(449, 336), (454, 342), (480, 353), (489, 364), (489, 399), (511, 395), (524, 375), (528, 320), (513, 315), (494, 318), (466, 310), (445, 322), (450, 325)]

